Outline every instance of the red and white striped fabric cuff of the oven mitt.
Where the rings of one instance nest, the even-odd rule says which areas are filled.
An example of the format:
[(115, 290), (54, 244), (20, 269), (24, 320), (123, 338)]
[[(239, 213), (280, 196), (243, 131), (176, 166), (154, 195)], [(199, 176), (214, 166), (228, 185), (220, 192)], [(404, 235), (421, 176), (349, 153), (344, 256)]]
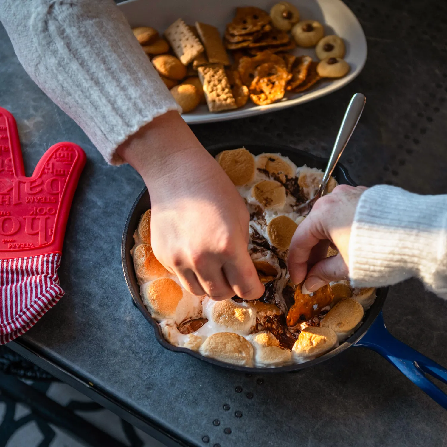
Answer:
[(0, 259), (0, 345), (25, 333), (62, 298), (60, 260), (60, 253)]

